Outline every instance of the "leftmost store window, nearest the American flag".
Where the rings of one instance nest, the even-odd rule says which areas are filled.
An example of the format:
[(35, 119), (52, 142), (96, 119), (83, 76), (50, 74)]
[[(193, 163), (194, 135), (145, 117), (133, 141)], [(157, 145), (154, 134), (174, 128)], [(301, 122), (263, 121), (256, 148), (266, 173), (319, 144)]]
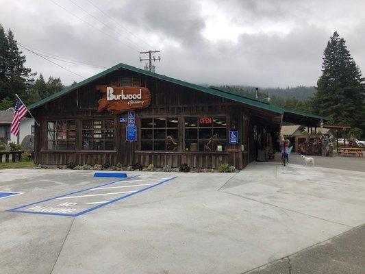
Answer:
[(47, 149), (73, 150), (76, 141), (74, 120), (49, 121), (47, 124)]

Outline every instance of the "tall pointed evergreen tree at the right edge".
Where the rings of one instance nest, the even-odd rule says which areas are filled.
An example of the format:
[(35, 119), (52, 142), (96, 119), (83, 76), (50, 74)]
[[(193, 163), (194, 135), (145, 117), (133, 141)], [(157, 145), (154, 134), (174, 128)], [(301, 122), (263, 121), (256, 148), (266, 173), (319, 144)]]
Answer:
[(314, 110), (329, 116), (333, 123), (364, 128), (364, 78), (337, 32), (329, 39), (324, 55), (322, 75), (312, 99)]

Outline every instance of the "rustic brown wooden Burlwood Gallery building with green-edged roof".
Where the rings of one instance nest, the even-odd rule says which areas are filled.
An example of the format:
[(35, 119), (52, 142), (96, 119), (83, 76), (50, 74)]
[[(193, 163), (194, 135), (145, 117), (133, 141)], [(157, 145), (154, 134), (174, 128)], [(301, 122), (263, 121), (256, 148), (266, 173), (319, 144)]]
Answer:
[(41, 164), (242, 169), (279, 132), (268, 103), (118, 64), (29, 106)]

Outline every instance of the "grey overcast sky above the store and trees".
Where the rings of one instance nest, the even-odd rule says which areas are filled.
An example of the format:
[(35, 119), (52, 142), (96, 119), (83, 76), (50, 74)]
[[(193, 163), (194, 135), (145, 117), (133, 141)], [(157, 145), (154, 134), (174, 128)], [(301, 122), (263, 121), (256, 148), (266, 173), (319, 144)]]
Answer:
[[(316, 85), (335, 30), (365, 70), (364, 10), (362, 0), (0, 0), (0, 23), (23, 45), (63, 59), (142, 68), (138, 51), (158, 49), (160, 74), (196, 84), (286, 87)], [(45, 77), (66, 85), (84, 79), (23, 52), (27, 66)], [(84, 77), (103, 70), (51, 60)]]

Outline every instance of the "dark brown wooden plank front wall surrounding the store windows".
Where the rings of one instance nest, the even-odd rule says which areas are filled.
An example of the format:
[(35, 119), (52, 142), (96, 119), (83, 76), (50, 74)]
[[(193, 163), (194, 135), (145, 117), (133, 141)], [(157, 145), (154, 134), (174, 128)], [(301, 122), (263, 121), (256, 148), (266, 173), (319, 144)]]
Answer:
[[(190, 152), (184, 151), (182, 145), (179, 151), (146, 152), (140, 151), (140, 140), (136, 142), (125, 141), (126, 123), (119, 123), (119, 118), (126, 114), (111, 115), (103, 111), (96, 112), (97, 101), (101, 99), (101, 92), (95, 90), (97, 84), (125, 84), (126, 79), (131, 79), (131, 84), (146, 86), (151, 91), (151, 105), (143, 110), (136, 110), (137, 125), (142, 116), (227, 116), (227, 131), (236, 129), (240, 132), (238, 145), (227, 145), (227, 151), (222, 153)], [(250, 160), (254, 160), (251, 129), (253, 120), (250, 113), (244, 110), (240, 103), (227, 99), (208, 95), (203, 92), (191, 90), (184, 86), (178, 86), (145, 75), (136, 75), (129, 71), (117, 71), (108, 77), (103, 77), (91, 84), (72, 91), (58, 99), (55, 99), (34, 111), (36, 119), (41, 126), (36, 127), (35, 160), (42, 164), (104, 164), (110, 162), (127, 166), (140, 163), (147, 166), (153, 163), (155, 166), (179, 166), (186, 163), (190, 167), (217, 168), (222, 162), (229, 162), (242, 169)], [(244, 121), (245, 116), (245, 121)], [(116, 140), (114, 151), (83, 151), (81, 150), (81, 119), (112, 118), (114, 119)], [(62, 119), (77, 120), (77, 140), (74, 151), (49, 151), (47, 150), (47, 121)], [(140, 127), (138, 127), (140, 128)], [(242, 129), (244, 131), (242, 132)], [(179, 135), (184, 131), (181, 131)], [(179, 138), (182, 138), (181, 136)], [(227, 132), (228, 138), (228, 132)], [(250, 143), (248, 142), (248, 138)], [(183, 139), (181, 139), (183, 140)], [(242, 142), (242, 140), (244, 140)], [(181, 142), (179, 142), (181, 144)], [(246, 147), (245, 152), (240, 150), (241, 145)], [(250, 155), (249, 155), (250, 151)]]

